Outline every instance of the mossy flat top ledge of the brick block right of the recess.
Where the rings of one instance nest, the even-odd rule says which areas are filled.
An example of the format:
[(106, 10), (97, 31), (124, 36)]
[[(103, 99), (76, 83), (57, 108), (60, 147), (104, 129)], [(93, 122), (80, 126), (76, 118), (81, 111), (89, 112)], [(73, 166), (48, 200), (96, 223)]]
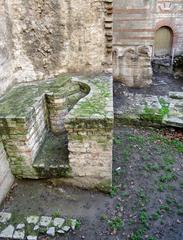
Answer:
[(70, 111), (65, 120), (68, 128), (111, 128), (113, 126), (113, 83), (112, 78), (73, 79), (87, 84), (90, 93), (82, 98)]

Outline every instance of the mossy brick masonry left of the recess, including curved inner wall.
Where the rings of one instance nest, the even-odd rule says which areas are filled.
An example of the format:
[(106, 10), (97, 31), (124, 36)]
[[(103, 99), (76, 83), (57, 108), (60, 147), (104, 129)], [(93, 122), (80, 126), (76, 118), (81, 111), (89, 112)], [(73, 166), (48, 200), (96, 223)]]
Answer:
[(65, 115), (85, 94), (78, 83), (63, 75), (20, 84), (0, 99), (0, 136), (16, 177), (40, 177), (33, 162), (47, 132), (63, 132)]

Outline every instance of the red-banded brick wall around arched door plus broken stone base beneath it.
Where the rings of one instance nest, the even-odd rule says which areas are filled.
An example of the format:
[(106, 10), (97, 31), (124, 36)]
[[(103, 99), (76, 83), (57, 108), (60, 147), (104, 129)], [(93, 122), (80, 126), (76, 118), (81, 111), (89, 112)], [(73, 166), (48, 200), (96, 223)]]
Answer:
[[(172, 54), (178, 55), (183, 52), (183, 3), (168, 0), (114, 0), (113, 9), (114, 78), (127, 86), (148, 85), (151, 83), (150, 68), (154, 56), (156, 30), (162, 26), (171, 28)], [(149, 49), (144, 60), (143, 55), (138, 53), (139, 47)], [(139, 66), (144, 70), (138, 71)]]

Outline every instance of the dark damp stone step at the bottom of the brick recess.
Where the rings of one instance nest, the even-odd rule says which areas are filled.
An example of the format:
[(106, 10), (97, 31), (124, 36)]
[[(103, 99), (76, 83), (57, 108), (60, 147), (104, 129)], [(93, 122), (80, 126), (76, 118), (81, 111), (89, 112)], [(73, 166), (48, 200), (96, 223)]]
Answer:
[(33, 162), (33, 167), (43, 178), (68, 176), (70, 168), (67, 134), (54, 135), (49, 132)]

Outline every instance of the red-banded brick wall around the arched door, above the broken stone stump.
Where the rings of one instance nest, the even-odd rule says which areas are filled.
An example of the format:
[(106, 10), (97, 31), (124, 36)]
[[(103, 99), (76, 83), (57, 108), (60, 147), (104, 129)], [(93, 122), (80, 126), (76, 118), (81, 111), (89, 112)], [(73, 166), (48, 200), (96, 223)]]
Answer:
[(155, 31), (169, 26), (175, 53), (183, 51), (183, 2), (169, 0), (114, 0), (114, 46), (154, 45)]

